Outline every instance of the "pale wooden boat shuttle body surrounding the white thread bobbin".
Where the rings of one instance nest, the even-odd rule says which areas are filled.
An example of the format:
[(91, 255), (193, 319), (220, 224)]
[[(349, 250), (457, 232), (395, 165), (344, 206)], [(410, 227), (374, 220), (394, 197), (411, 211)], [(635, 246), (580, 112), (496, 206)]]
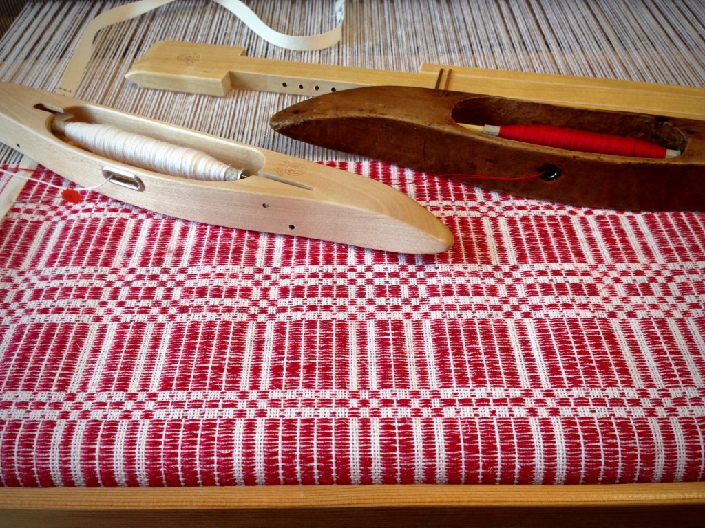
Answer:
[[(98, 156), (54, 120), (114, 125), (187, 146), (249, 177), (205, 182)], [(83, 187), (185, 220), (400, 253), (439, 253), (453, 235), (409, 196), (367, 177), (18, 84), (0, 83), (0, 142)]]

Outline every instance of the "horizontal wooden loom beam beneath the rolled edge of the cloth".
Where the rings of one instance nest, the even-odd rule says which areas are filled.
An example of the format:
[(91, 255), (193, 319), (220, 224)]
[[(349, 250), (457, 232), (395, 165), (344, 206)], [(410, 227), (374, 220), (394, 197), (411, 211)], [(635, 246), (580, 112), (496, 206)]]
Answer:
[[(2, 20), (3, 25), (9, 21)], [(0, 489), (0, 527), (16, 528), (328, 524), (685, 528), (700, 526), (704, 519), (705, 482)]]

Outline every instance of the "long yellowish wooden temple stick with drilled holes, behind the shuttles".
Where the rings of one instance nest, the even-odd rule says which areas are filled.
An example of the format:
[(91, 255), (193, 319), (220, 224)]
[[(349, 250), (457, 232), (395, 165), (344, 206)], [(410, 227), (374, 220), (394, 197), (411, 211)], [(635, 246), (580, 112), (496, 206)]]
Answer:
[(245, 49), (162, 41), (128, 72), (141, 87), (223, 96), (232, 89), (315, 96), (364, 86), (433, 88), (439, 71), (453, 70), (444, 89), (577, 108), (705, 120), (705, 88), (424, 64), (418, 73), (277, 61)]

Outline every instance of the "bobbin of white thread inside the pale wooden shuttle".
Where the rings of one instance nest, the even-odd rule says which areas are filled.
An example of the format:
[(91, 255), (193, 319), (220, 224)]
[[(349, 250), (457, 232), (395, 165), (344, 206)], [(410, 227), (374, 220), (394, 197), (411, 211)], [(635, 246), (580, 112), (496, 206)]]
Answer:
[(51, 128), (83, 149), (162, 174), (209, 182), (240, 180), (249, 175), (246, 169), (232, 168), (196, 149), (173, 145), (111, 125), (54, 120)]

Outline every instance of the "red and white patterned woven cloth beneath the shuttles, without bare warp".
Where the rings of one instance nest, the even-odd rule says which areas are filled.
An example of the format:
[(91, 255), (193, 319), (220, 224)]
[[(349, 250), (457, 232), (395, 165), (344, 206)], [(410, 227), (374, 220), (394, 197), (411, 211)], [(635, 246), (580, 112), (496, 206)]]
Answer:
[[(0, 483), (703, 479), (704, 214), (338, 166), (427, 206), (453, 250), (231, 230), (96, 193), (16, 203)], [(47, 196), (30, 182), (20, 200)]]

